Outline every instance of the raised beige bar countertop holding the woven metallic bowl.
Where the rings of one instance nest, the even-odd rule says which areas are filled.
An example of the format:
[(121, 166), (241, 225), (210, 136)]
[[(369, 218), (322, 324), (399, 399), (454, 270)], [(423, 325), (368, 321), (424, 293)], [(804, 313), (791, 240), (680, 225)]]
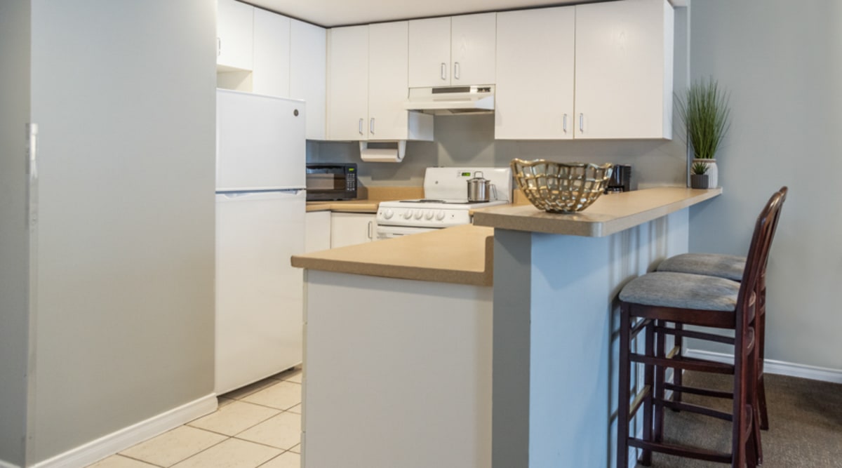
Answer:
[(547, 213), (533, 205), (477, 210), (473, 222), (513, 231), (605, 237), (722, 194), (722, 189), (658, 187), (602, 195), (578, 213)]

